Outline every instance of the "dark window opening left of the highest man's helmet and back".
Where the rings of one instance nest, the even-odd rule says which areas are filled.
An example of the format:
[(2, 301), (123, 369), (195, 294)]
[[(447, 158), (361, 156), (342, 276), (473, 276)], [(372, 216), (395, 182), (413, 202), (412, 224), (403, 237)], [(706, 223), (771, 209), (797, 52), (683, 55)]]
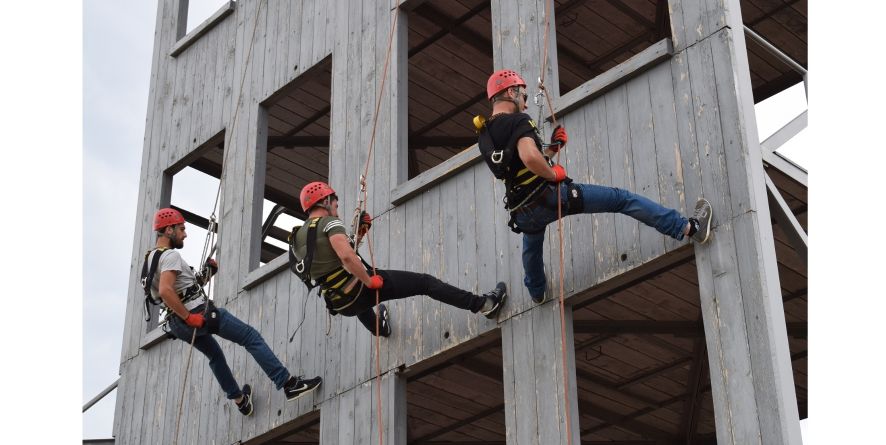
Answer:
[(488, 112), (489, 0), (426, 2), (410, 11), (408, 178), (477, 142), (471, 119)]

